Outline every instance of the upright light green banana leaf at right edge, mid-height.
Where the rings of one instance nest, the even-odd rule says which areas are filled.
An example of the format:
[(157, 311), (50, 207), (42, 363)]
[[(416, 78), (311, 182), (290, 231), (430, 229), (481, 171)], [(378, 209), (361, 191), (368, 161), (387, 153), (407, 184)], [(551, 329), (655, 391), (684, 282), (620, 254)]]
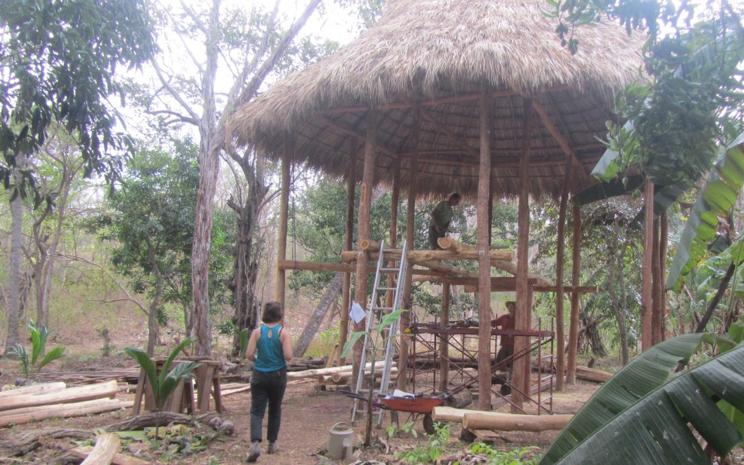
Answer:
[(725, 217), (744, 185), (744, 133), (722, 155), (708, 177), (687, 224), (667, 276), (667, 289), (679, 290), (682, 278), (690, 272), (716, 240), (719, 217)]

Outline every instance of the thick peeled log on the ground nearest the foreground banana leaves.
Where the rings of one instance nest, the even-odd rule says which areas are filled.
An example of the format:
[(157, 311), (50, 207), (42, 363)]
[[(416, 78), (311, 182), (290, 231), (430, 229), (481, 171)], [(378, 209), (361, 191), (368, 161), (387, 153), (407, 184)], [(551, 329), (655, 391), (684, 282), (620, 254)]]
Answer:
[(563, 429), (574, 415), (519, 415), (469, 410), (463, 415), (466, 429), (543, 432)]

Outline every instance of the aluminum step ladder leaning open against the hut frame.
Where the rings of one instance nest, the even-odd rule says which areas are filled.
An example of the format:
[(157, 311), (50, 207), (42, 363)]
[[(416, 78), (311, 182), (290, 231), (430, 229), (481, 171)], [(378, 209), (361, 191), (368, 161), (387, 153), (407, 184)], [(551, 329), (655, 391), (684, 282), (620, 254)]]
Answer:
[[(364, 338), (362, 338), (362, 341), (364, 345), (364, 349), (362, 350), (362, 360), (359, 364), (359, 373), (356, 376), (356, 387), (354, 389), (354, 392), (356, 394), (362, 394), (367, 395), (369, 394), (368, 389), (362, 389), (362, 385), (365, 380), (365, 365), (367, 365), (368, 362), (368, 351), (370, 349), (369, 344), (369, 336), (372, 335), (373, 338), (377, 339), (379, 337), (384, 337), (385, 333), (388, 334), (388, 339), (384, 339), (385, 341), (385, 365), (382, 367), (382, 378), (379, 381), (379, 386), (376, 384), (376, 376), (373, 379), (373, 383), (371, 388), (373, 389), (373, 397), (376, 397), (378, 394), (382, 395), (388, 395), (390, 394), (390, 383), (391, 383), (391, 376), (390, 371), (393, 366), (393, 356), (394, 352), (397, 350), (397, 344), (395, 344), (395, 339), (397, 338), (398, 334), (398, 327), (399, 327), (399, 320), (400, 318), (396, 318), (395, 321), (393, 321), (391, 324), (385, 326), (382, 328), (382, 335), (377, 334), (376, 329), (376, 322), (382, 321), (382, 318), (384, 317), (385, 313), (392, 312), (393, 310), (399, 309), (400, 305), (403, 301), (403, 281), (405, 280), (405, 272), (408, 268), (408, 262), (405, 259), (406, 258), (406, 252), (407, 252), (407, 244), (405, 241), (403, 242), (403, 248), (385, 248), (385, 241), (382, 241), (379, 245), (379, 257), (377, 258), (377, 270), (375, 272), (374, 276), (374, 285), (372, 288), (372, 300), (371, 304), (369, 305), (370, 312), (367, 313), (367, 324), (365, 326), (366, 334)], [(385, 252), (400, 252), (400, 260), (396, 260), (396, 266), (389, 267), (387, 265), (388, 261), (391, 261), (385, 258)], [(387, 275), (388, 273), (394, 272), (396, 274), (395, 278), (395, 286), (391, 286), (390, 283), (385, 283), (385, 285), (381, 285), (380, 281), (382, 278), (382, 275)], [(393, 292), (393, 306), (392, 307), (379, 307), (376, 305), (377, 298), (379, 296), (379, 292)], [(378, 360), (377, 354), (375, 354), (375, 362)], [(372, 368), (370, 368), (372, 369)], [(400, 368), (399, 368), (400, 369)], [(356, 421), (356, 417), (358, 414), (365, 414), (367, 413), (367, 403), (363, 402), (361, 400), (355, 401), (353, 409), (351, 411), (351, 422), (354, 423)], [(378, 426), (382, 424), (382, 409), (378, 412), (378, 418), (377, 418), (377, 424)]]

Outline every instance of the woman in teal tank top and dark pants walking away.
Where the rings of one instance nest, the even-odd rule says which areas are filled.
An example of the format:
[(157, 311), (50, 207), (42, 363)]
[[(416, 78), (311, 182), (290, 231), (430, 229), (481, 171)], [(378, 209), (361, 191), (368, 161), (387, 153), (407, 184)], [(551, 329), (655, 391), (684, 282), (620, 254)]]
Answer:
[[(260, 327), (253, 330), (248, 341), (246, 356), (256, 356), (251, 374), (251, 449), (248, 462), (255, 462), (261, 455), (261, 429), (266, 403), (269, 404), (269, 439), (267, 454), (277, 450), (276, 441), (281, 423), (281, 400), (286, 389), (286, 362), (292, 360), (292, 336), (283, 330), (284, 315), (278, 302), (269, 302), (263, 307)], [(256, 353), (258, 352), (258, 353)]]

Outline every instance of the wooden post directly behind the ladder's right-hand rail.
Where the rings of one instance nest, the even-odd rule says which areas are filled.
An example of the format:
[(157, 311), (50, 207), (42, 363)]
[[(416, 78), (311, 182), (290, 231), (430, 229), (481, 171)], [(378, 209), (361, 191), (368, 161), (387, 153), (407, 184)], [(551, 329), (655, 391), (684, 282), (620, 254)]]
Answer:
[[(411, 134), (411, 171), (410, 181), (408, 182), (408, 208), (405, 213), (405, 241), (408, 243), (409, 250), (414, 249), (414, 234), (415, 226), (414, 219), (416, 218), (416, 197), (418, 196), (419, 186), (419, 165), (418, 165), (418, 140), (419, 140), (419, 126), (421, 124), (420, 112), (414, 113), (413, 121), (413, 134)], [(411, 324), (411, 289), (413, 287), (413, 266), (408, 264), (408, 270), (405, 272), (405, 282), (403, 283), (403, 308), (408, 309), (408, 312), (403, 312), (400, 315), (400, 332), (403, 334), (403, 330)], [(408, 339), (407, 336), (400, 337), (400, 356), (398, 359), (398, 379), (397, 386), (401, 391), (408, 389), (408, 379), (405, 377), (408, 370)]]

